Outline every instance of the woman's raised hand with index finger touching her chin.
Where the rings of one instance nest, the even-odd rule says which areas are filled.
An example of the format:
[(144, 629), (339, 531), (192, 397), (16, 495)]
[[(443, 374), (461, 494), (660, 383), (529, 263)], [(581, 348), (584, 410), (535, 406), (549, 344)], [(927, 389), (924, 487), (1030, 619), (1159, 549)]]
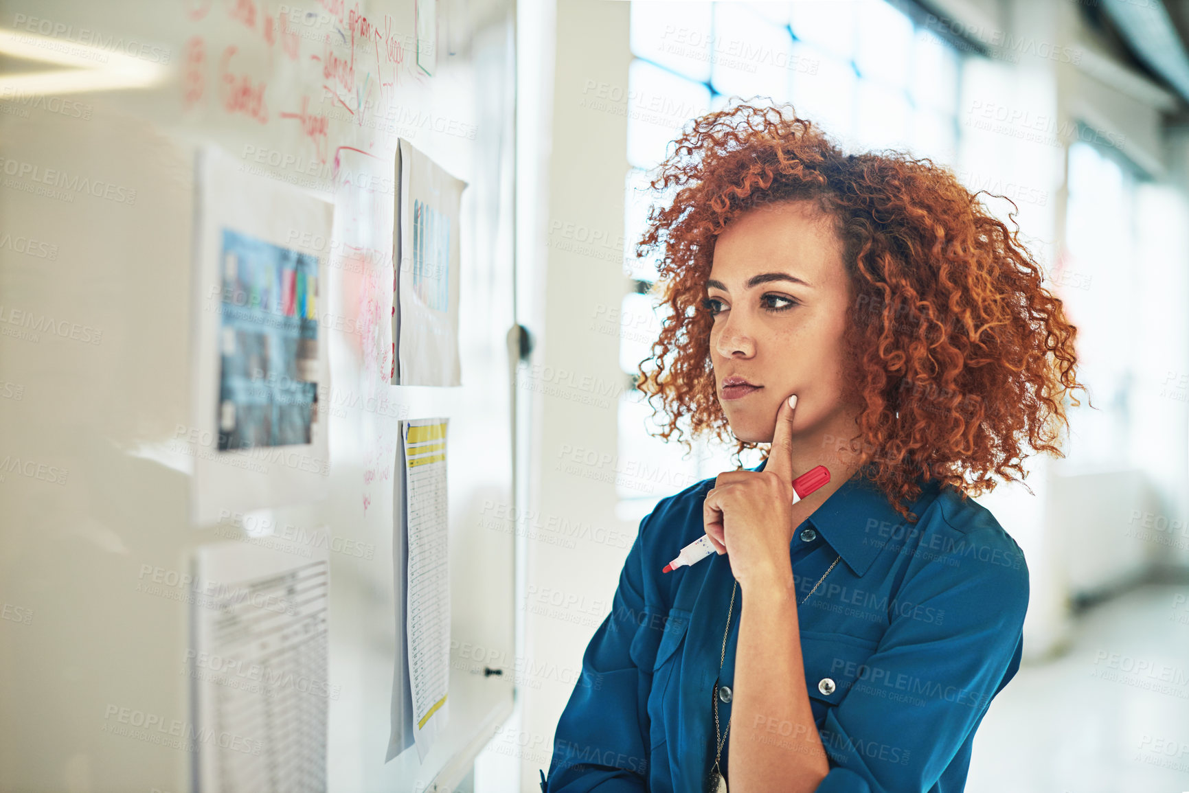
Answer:
[[(792, 405), (789, 404), (792, 402)], [(772, 451), (763, 471), (726, 471), (706, 493), (703, 522), (719, 554), (726, 553), (731, 573), (748, 581), (787, 583), (793, 568), (793, 414), (795, 395), (780, 403)]]

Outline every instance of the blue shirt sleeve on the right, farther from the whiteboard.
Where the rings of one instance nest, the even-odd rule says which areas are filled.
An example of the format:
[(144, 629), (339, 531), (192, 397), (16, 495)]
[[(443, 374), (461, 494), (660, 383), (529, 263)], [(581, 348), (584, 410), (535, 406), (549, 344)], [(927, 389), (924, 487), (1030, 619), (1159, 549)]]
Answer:
[(930, 789), (1019, 665), (1028, 572), (1002, 529), (910, 567), (875, 653), (826, 712), (817, 793)]

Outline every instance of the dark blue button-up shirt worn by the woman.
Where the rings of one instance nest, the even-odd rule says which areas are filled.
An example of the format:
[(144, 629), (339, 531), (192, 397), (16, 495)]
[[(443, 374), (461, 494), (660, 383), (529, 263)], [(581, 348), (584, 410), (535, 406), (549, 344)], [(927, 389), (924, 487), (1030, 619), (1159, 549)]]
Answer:
[[(1023, 550), (957, 489), (918, 484), (910, 504), (917, 523), (856, 476), (793, 535), (805, 685), (830, 764), (818, 793), (960, 793), (975, 730), (1019, 668), (1028, 603)], [(707, 789), (711, 698), (731, 686), (742, 597), (719, 672), (735, 580), (728, 556), (661, 568), (704, 534), (702, 505), (713, 485), (704, 479), (661, 499), (641, 522), (611, 613), (558, 722), (545, 793)], [(768, 726), (774, 742), (788, 739), (789, 724)], [(724, 776), (729, 749), (730, 741), (719, 760)]]

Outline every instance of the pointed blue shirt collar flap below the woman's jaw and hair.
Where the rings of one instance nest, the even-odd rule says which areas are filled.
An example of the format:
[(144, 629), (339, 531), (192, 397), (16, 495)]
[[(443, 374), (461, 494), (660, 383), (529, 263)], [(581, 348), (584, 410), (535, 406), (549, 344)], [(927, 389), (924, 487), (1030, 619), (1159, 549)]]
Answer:
[[(767, 462), (765, 459), (753, 471), (763, 471)], [(868, 464), (867, 467), (873, 468), (874, 464)], [(927, 502), (937, 492), (939, 483), (918, 477), (917, 484), (920, 485), (921, 492), (917, 501), (910, 504), (910, 509), (916, 511), (919, 518), (920, 511), (913, 508)], [(906, 521), (895, 511), (895, 506), (883, 491), (862, 477), (860, 471), (842, 487), (830, 493), (830, 497), (813, 510), (809, 522), (842, 556), (855, 575), (862, 575), (875, 561), (888, 537), (895, 534), (893, 527)]]

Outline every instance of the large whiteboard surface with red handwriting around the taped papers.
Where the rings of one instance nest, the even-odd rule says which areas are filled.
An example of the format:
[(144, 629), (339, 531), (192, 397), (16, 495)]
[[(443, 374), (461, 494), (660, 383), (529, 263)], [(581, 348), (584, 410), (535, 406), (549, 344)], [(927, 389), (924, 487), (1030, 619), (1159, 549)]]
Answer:
[[(511, 712), (514, 6), (435, 5), (419, 19), (413, 0), (4, 4), (5, 787), (191, 789), (193, 753), (133, 728), (190, 718), (178, 580), (197, 547), (227, 540), (332, 537), (331, 789), (449, 789)], [(388, 382), (400, 138), (467, 183), (458, 388)], [(334, 231), (309, 240), (329, 273), (326, 496), (196, 525), (187, 436), (203, 146), (333, 202)], [(428, 416), (451, 427), (451, 722), (424, 764), (415, 749), (385, 763), (402, 649), (397, 422)]]

